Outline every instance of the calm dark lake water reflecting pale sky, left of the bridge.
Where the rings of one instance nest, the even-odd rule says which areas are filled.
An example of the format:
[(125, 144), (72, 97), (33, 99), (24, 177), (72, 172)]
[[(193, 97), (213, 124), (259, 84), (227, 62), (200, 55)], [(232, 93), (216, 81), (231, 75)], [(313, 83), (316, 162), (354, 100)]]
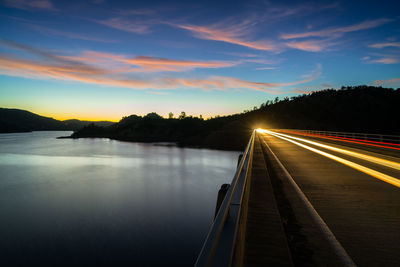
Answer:
[(192, 265), (239, 153), (69, 134), (0, 134), (0, 265)]

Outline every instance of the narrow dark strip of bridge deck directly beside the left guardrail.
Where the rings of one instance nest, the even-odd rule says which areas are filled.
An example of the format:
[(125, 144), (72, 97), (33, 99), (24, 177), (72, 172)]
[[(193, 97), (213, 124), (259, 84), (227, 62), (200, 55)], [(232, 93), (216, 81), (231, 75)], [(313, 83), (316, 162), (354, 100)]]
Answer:
[(254, 143), (248, 199), (245, 266), (292, 266), (261, 142)]

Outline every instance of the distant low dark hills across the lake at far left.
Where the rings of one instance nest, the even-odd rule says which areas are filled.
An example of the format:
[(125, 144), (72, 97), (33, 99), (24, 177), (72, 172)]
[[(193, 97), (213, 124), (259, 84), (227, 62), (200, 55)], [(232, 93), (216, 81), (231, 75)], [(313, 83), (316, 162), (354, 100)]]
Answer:
[[(78, 130), (90, 121), (66, 120), (59, 121), (43, 117), (21, 109), (0, 108), (0, 133), (53, 131), (53, 130)], [(109, 126), (113, 122), (94, 122), (96, 125)]]

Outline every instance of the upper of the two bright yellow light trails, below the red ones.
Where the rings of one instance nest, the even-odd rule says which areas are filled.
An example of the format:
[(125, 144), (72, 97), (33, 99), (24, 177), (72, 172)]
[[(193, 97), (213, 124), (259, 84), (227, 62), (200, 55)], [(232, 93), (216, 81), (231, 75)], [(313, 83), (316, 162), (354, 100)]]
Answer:
[(379, 165), (390, 167), (390, 168), (393, 168), (393, 169), (396, 169), (396, 170), (400, 170), (400, 163), (397, 163), (397, 162), (394, 162), (394, 161), (381, 159), (381, 158), (369, 156), (369, 155), (366, 155), (366, 154), (361, 154), (361, 153), (353, 152), (353, 151), (350, 151), (350, 150), (337, 148), (337, 147), (334, 147), (334, 146), (324, 145), (324, 144), (321, 144), (321, 143), (318, 143), (318, 142), (315, 142), (315, 141), (310, 141), (310, 140), (307, 140), (307, 139), (304, 139), (304, 138), (294, 137), (294, 136), (281, 134), (281, 133), (276, 133), (276, 132), (273, 132), (273, 133), (275, 133), (277, 135), (280, 135), (280, 136), (287, 137), (287, 138), (291, 138), (291, 139), (294, 139), (294, 140), (302, 141), (302, 142), (305, 142), (305, 143), (308, 143), (308, 144), (312, 144), (312, 145), (315, 145), (315, 146), (323, 147), (323, 148), (326, 148), (326, 149), (329, 149), (329, 150), (333, 150), (333, 151), (336, 151), (336, 152), (339, 152), (339, 153), (342, 153), (342, 154), (346, 154), (346, 155), (349, 155), (349, 156), (352, 156), (352, 157), (356, 157), (356, 158), (359, 158), (359, 159), (370, 161), (370, 162), (373, 162), (373, 163), (376, 163), (376, 164), (379, 164)]

